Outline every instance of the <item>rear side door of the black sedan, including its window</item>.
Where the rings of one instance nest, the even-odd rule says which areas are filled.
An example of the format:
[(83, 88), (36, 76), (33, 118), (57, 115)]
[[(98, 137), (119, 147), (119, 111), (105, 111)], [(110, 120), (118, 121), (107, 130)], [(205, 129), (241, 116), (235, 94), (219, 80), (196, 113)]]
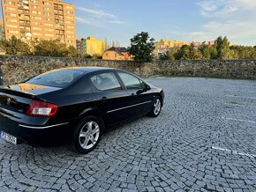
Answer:
[(88, 78), (93, 92), (99, 100), (98, 107), (108, 125), (123, 122), (129, 118), (127, 107), (128, 93), (112, 71), (99, 72)]

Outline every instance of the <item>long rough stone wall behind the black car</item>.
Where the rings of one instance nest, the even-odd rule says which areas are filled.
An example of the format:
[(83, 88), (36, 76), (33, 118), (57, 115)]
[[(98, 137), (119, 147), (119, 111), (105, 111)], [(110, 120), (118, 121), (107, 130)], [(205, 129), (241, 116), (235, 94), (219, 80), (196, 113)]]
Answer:
[(101, 66), (129, 70), (140, 76), (256, 79), (256, 60), (155, 61), (133, 63), (80, 58), (0, 55), (4, 84), (13, 84), (42, 72), (74, 66)]

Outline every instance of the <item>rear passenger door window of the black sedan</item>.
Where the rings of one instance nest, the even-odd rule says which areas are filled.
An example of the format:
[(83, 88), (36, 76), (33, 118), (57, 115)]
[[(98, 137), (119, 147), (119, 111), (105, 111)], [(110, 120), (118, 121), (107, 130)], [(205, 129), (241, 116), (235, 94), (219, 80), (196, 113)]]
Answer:
[(109, 90), (121, 90), (121, 85), (119, 84), (117, 77), (114, 73), (101, 73), (90, 78), (94, 87), (100, 91), (109, 91)]

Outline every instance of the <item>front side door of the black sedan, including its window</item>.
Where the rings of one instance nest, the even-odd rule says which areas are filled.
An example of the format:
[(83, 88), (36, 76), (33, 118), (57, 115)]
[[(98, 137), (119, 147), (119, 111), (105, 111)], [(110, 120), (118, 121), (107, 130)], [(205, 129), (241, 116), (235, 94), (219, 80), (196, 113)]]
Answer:
[(129, 115), (138, 116), (140, 114), (147, 114), (154, 100), (154, 95), (149, 92), (149, 86), (130, 73), (118, 71), (117, 74), (129, 95), (127, 99), (127, 103), (130, 106)]

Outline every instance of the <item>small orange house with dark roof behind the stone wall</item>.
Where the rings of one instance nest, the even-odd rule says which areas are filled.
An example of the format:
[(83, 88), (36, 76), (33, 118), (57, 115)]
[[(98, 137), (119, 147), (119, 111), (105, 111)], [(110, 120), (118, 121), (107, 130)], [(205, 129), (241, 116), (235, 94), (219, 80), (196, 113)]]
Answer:
[(127, 48), (109, 48), (102, 55), (103, 60), (132, 60)]

